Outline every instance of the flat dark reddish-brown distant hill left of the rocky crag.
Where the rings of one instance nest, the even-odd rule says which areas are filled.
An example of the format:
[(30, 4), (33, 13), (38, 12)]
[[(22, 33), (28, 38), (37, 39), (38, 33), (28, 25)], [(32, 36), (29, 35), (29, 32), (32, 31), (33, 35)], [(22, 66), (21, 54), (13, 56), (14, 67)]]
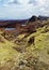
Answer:
[(15, 28), (17, 24), (24, 24), (28, 19), (19, 19), (19, 20), (0, 20), (0, 27), (5, 28)]

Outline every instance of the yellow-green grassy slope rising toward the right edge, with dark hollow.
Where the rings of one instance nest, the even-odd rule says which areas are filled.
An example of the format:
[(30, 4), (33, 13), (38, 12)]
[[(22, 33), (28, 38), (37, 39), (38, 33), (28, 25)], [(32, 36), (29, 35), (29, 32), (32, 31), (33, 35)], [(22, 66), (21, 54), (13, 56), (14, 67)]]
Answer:
[[(39, 68), (40, 68), (40, 70), (49, 70), (49, 26), (48, 26), (48, 24), (42, 28), (37, 28), (36, 32), (31, 33), (30, 36), (28, 36), (26, 38), (24, 37), (21, 38), (21, 40), (23, 39), (21, 41), (22, 43), (23, 43), (23, 41), (26, 41), (24, 42), (24, 51), (26, 51), (24, 58), (29, 59), (31, 56), (31, 59), (29, 59), (30, 65), (33, 64), (32, 62), (33, 56), (38, 57), (39, 62), (37, 61), (37, 65), (39, 65), (39, 66), (38, 67), (37, 67), (37, 65), (34, 66), (37, 68), (36, 70), (39, 70)], [(34, 37), (34, 42), (32, 42), (30, 44), (29, 40), (33, 37)], [(20, 37), (19, 37), (19, 40), (20, 40)], [(20, 45), (20, 47), (21, 47), (21, 45)], [(21, 47), (21, 50), (22, 50), (22, 47)]]

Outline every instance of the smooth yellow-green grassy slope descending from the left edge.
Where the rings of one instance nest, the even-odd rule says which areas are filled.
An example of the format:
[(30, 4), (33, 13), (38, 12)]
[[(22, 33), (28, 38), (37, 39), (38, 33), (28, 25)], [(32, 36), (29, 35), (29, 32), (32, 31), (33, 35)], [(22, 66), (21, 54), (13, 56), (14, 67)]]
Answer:
[(14, 46), (16, 46), (14, 43), (5, 40), (0, 34), (0, 70), (9, 70), (15, 66), (15, 62), (18, 64), (20, 53), (15, 51)]

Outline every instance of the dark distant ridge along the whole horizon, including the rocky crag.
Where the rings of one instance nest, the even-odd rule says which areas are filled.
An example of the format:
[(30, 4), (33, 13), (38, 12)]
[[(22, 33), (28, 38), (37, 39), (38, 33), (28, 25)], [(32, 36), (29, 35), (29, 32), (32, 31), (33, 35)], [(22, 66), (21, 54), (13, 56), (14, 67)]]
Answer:
[(29, 23), (33, 23), (33, 22), (42, 22), (42, 20), (47, 20), (49, 17), (47, 16), (32, 16), (29, 19), (10, 19), (10, 20), (0, 20), (0, 27), (4, 27), (4, 28), (15, 28), (19, 25), (27, 25)]

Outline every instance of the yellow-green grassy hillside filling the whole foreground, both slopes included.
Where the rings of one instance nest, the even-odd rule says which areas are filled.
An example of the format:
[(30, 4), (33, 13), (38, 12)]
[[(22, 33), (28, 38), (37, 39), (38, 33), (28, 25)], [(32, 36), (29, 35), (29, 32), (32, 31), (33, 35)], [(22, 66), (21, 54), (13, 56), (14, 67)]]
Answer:
[(40, 25), (18, 36), (0, 30), (0, 70), (49, 70), (49, 20)]

